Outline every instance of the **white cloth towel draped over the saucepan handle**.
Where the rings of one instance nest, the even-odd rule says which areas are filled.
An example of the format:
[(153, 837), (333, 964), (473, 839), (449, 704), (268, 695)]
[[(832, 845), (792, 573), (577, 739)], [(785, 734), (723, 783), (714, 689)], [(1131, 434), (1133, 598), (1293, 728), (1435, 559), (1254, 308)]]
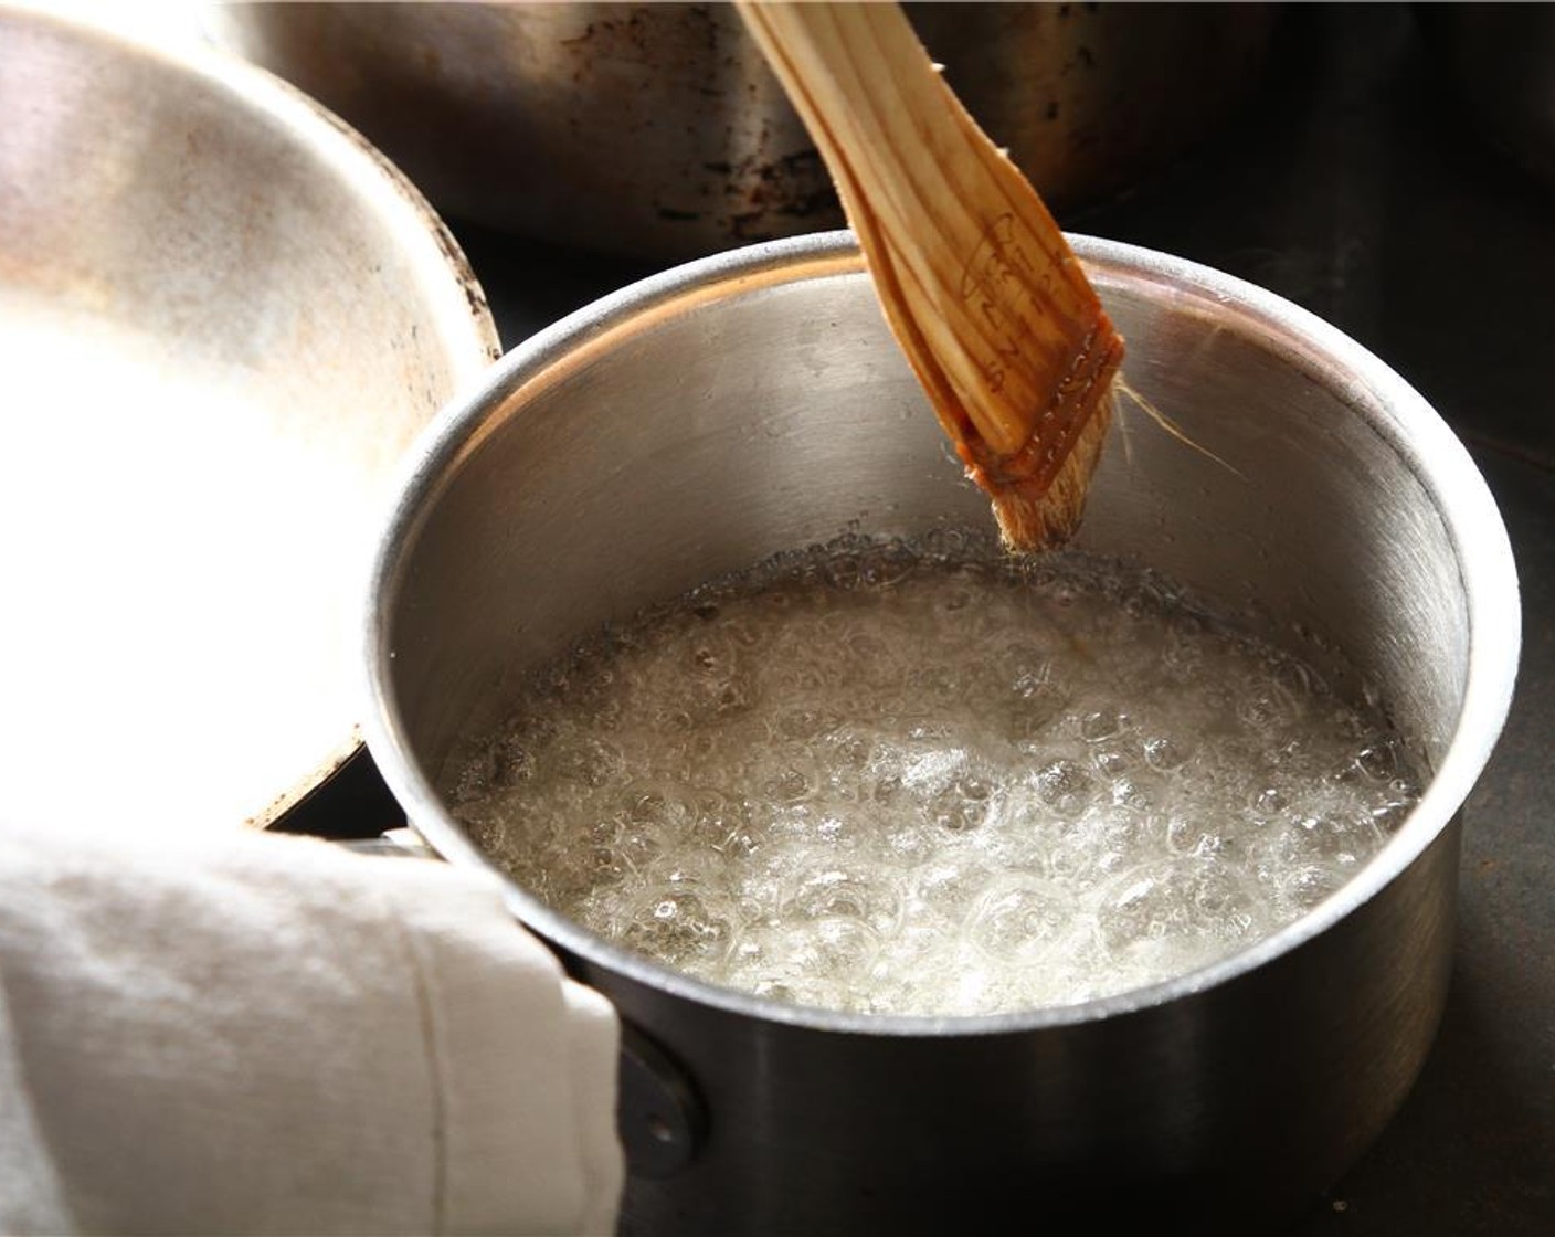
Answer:
[(498, 882), (0, 823), (0, 1231), (608, 1234), (617, 1024)]

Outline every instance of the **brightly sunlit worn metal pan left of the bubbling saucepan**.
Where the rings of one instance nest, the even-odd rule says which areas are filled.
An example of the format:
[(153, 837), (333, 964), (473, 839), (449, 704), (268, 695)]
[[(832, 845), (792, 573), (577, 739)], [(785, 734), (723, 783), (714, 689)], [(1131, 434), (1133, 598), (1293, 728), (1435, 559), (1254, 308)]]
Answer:
[(494, 352), (417, 193), (207, 54), (0, 9), (3, 814), (264, 823), (344, 761), (386, 475)]

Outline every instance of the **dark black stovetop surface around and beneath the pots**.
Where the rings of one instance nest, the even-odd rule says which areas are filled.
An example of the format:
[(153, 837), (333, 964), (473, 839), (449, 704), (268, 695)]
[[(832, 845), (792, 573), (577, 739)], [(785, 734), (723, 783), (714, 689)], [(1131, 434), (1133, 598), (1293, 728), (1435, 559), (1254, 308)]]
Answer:
[[(1476, 126), (1410, 6), (1297, 6), (1264, 87), (1225, 131), (1064, 224), (1326, 317), (1435, 405), (1496, 493), (1524, 650), (1510, 722), (1465, 809), (1446, 1018), (1398, 1117), (1294, 1234), (1555, 1234), (1555, 187)], [(653, 269), (454, 229), (508, 347)], [(383, 815), (359, 811), (376, 803), (359, 781), (323, 831), (376, 829)]]

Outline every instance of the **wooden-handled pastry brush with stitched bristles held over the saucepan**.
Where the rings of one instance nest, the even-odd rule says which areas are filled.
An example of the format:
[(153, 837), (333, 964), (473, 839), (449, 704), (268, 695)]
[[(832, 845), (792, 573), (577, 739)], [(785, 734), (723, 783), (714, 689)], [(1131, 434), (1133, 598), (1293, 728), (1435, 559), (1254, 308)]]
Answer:
[(1123, 339), (1042, 199), (894, 3), (739, 3), (837, 182), (891, 330), (1005, 543), (1079, 526)]

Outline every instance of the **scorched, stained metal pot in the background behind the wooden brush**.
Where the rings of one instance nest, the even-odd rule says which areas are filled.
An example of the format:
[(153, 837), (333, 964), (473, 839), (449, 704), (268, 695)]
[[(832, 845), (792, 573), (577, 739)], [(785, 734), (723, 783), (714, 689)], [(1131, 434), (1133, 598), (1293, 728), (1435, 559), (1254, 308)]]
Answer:
[[(1210, 132), (1267, 5), (911, 5), (950, 84), (1050, 202)], [(440, 210), (692, 257), (838, 227), (826, 168), (726, 5), (224, 5), (215, 36), (316, 95)]]

